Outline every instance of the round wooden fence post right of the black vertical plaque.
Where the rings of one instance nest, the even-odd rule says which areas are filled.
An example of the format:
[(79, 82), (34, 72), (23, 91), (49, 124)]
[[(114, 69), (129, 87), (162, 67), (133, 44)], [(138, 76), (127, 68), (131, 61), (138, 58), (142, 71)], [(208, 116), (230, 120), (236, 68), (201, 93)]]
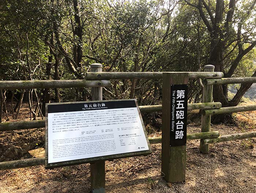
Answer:
[[(204, 72), (214, 72), (213, 65), (204, 66)], [(212, 102), (212, 89), (213, 85), (204, 84), (202, 103)], [(211, 130), (211, 115), (203, 115), (201, 121), (201, 132), (207, 132)], [(209, 153), (209, 145), (205, 145), (203, 139), (200, 140), (200, 152)]]

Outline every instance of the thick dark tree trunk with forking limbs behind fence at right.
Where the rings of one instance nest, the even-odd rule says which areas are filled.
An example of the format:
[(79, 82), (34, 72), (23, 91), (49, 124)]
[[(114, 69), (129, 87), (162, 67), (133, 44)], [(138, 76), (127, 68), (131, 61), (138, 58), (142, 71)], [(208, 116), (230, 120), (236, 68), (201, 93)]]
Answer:
[[(234, 34), (234, 11), (236, 8), (236, 0), (229, 0), (228, 7), (225, 7), (224, 0), (216, 0), (216, 9), (215, 11), (211, 11), (210, 1), (208, 4), (206, 1), (199, 0), (198, 4), (192, 4), (191, 1), (184, 0), (188, 5), (195, 7), (198, 9), (200, 16), (207, 27), (208, 32), (211, 36), (211, 45), (210, 45), (210, 57), (208, 60), (208, 64), (212, 64), (215, 66), (215, 71), (223, 72), (225, 78), (230, 78), (234, 71), (236, 70), (238, 64), (244, 55), (246, 55), (249, 51), (251, 51), (256, 46), (256, 41), (251, 42), (249, 47), (245, 50), (243, 49), (243, 45), (245, 44), (246, 37), (242, 36), (241, 28), (242, 25), (246, 23), (246, 20), (251, 16), (252, 11), (254, 10), (256, 0), (253, 0), (250, 3), (250, 7), (248, 7), (246, 15), (247, 17), (241, 17), (240, 21), (237, 23), (237, 34), (233, 38)], [(225, 1), (226, 2), (226, 1)], [(226, 2), (227, 3), (227, 2)], [(203, 5), (202, 5), (203, 4)], [(226, 12), (224, 10), (227, 10)], [(207, 12), (206, 12), (207, 11)], [(206, 15), (208, 13), (208, 15)], [(231, 66), (229, 69), (224, 69), (224, 53), (228, 51), (228, 47), (231, 46), (230, 43), (235, 43), (238, 46), (238, 54), (235, 59), (230, 59)], [(234, 49), (235, 50), (235, 49)], [(233, 51), (234, 51), (233, 50)], [(230, 53), (232, 53), (231, 51)], [(233, 52), (235, 53), (235, 52)], [(225, 71), (226, 70), (226, 71)], [(253, 75), (255, 76), (255, 74)], [(228, 90), (227, 85), (214, 85), (213, 87), (213, 99), (215, 102), (221, 102), (222, 107), (236, 106), (240, 102), (242, 96), (245, 92), (250, 88), (251, 83), (242, 84), (240, 89), (237, 91), (237, 94), (234, 98), (229, 101), (228, 100)], [(213, 116), (215, 119), (223, 120), (230, 119), (231, 115), (218, 115)]]

